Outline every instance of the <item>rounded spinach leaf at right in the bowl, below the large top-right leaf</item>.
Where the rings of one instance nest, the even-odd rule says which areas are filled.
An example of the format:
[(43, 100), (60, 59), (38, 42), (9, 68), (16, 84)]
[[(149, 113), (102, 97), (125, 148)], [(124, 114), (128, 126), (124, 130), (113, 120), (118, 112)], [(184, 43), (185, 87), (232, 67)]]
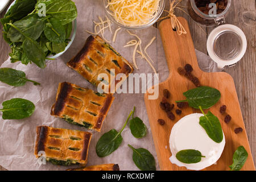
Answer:
[(64, 26), (56, 18), (48, 19), (46, 28), (44, 28), (44, 35), (53, 43), (62, 43), (66, 39), (66, 31)]

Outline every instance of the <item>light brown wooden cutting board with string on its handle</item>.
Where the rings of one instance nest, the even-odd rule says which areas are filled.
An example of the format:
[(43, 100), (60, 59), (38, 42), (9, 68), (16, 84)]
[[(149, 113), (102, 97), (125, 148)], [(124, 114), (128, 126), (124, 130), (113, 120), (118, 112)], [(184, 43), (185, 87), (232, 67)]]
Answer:
[[(148, 93), (144, 95), (144, 101), (147, 108), (147, 114), (150, 121), (160, 169), (186, 170), (185, 167), (178, 167), (170, 162), (169, 158), (172, 154), (169, 147), (169, 137), (172, 126), (174, 126), (180, 118), (192, 113), (201, 113), (200, 110), (192, 109), (191, 107), (181, 109), (181, 115), (177, 115), (175, 113), (175, 110), (177, 109), (175, 101), (185, 100), (183, 92), (196, 88), (191, 81), (177, 73), (177, 68), (184, 67), (185, 64), (191, 64), (193, 67), (192, 73), (194, 76), (199, 78), (201, 85), (211, 86), (221, 92), (220, 101), (211, 107), (210, 111), (220, 119), (220, 123), (225, 134), (226, 144), (221, 158), (217, 161), (217, 165), (213, 164), (204, 170), (229, 170), (230, 164), (233, 163), (233, 153), (236, 151), (237, 147), (241, 145), (245, 147), (249, 154), (246, 163), (241, 170), (255, 170), (233, 78), (228, 73), (224, 72), (206, 73), (201, 71), (197, 64), (195, 47), (193, 46), (187, 20), (180, 17), (178, 19), (181, 24), (183, 24), (187, 34), (180, 36), (177, 35), (176, 31), (172, 30), (170, 19), (163, 20), (159, 25), (170, 76), (166, 81), (159, 84), (158, 99), (148, 100)], [(175, 121), (171, 121), (167, 117), (166, 113), (160, 109), (159, 104), (163, 98), (163, 89), (170, 90), (171, 97), (168, 101), (170, 104), (175, 104), (175, 107), (172, 110), (176, 117)], [(219, 111), (220, 106), (222, 105), (227, 106), (226, 113), (232, 117), (232, 120), (228, 124), (224, 122), (226, 114), (220, 114)], [(205, 112), (207, 111), (208, 110), (205, 110)], [(164, 119), (166, 124), (163, 126), (159, 125), (158, 119)], [(234, 129), (236, 127), (242, 127), (242, 133), (235, 134)]]

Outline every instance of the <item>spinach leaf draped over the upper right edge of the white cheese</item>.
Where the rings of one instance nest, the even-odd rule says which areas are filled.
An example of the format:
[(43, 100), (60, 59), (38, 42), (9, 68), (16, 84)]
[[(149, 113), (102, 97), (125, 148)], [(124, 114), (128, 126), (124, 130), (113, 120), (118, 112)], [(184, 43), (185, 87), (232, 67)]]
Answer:
[(221, 143), (223, 140), (223, 132), (220, 121), (210, 111), (207, 114), (204, 113), (201, 106), (199, 106), (204, 116), (200, 117), (199, 124), (204, 128), (207, 135), (216, 143)]

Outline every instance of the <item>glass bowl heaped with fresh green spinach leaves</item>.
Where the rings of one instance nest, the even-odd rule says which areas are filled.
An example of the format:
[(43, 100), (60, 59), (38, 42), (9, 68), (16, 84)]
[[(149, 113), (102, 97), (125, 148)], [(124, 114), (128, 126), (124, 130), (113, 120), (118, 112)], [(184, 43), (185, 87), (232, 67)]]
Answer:
[(3, 38), (11, 47), (11, 63), (35, 63), (61, 56), (76, 36), (76, 5), (71, 0), (16, 0), (5, 16)]

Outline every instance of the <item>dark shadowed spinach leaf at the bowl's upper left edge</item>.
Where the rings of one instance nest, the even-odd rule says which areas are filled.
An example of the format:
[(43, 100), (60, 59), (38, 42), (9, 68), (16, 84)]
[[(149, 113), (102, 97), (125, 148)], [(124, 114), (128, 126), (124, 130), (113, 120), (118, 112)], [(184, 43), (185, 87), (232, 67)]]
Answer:
[(36, 0), (19, 0), (7, 11), (4, 18), (22, 19), (35, 9)]

